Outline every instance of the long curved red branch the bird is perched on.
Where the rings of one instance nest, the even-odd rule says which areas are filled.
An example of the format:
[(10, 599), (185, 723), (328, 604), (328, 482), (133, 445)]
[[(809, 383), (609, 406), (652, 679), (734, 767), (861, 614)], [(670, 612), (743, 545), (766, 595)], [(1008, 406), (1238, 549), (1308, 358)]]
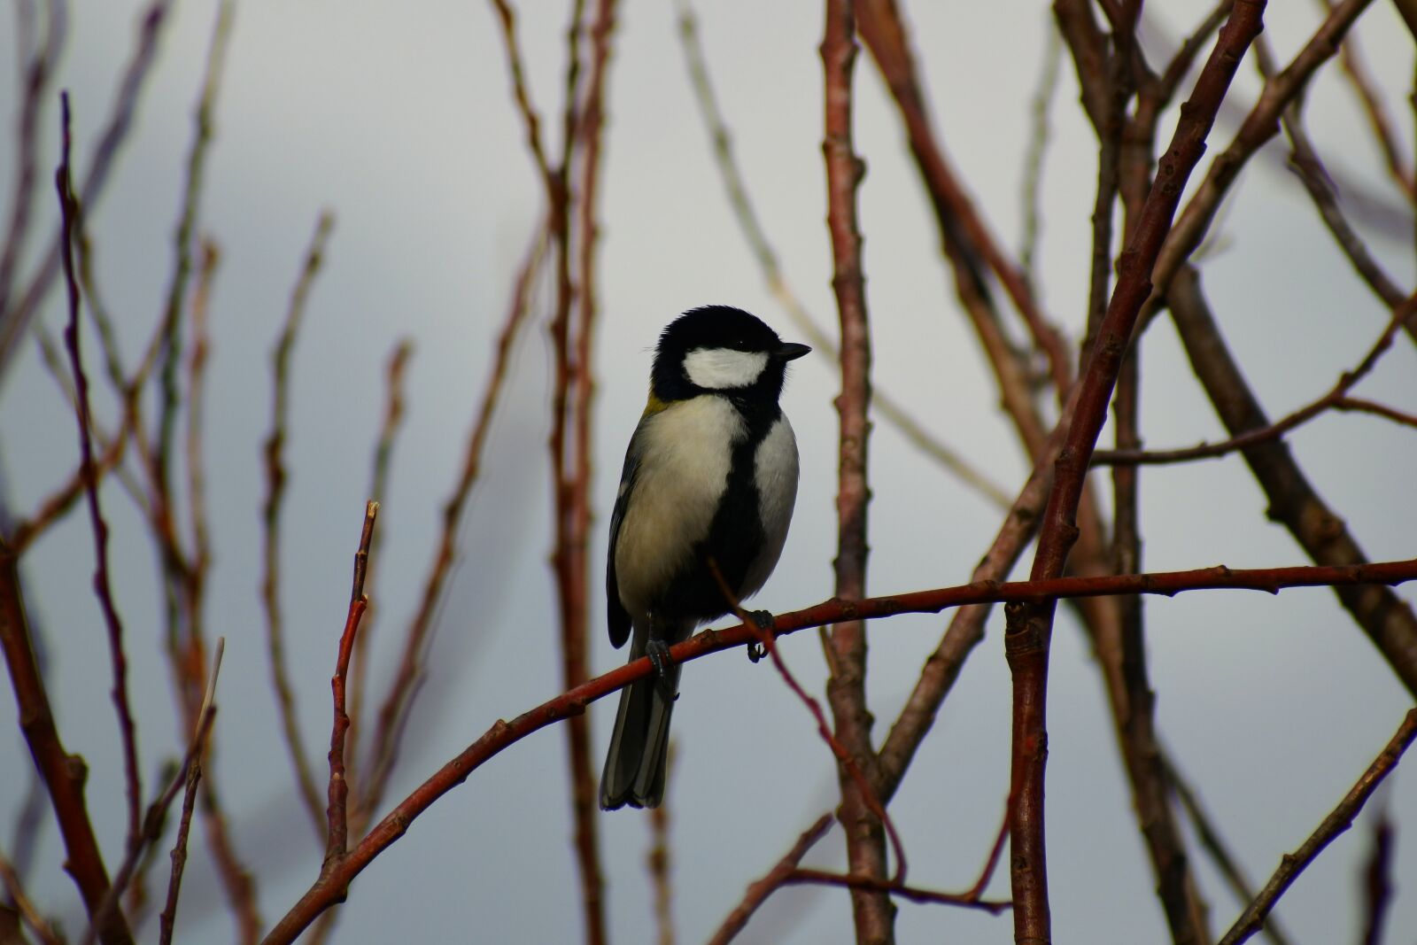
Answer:
[[(1403, 584), (1417, 581), (1417, 558), (1349, 567), (1294, 567), (1231, 570), (1224, 565), (1193, 571), (1156, 574), (1124, 574), (1090, 578), (1050, 578), (1046, 581), (978, 581), (954, 588), (915, 591), (862, 601), (830, 599), (803, 611), (775, 618), (778, 636), (795, 630), (825, 626), (839, 621), (862, 621), (896, 613), (938, 613), (966, 604), (998, 604), (1000, 601), (1039, 601), (1044, 598), (1073, 598), (1117, 594), (1161, 594), (1170, 596), (1200, 589), (1255, 589), (1277, 594), (1292, 587), (1331, 587), (1343, 584)], [(0, 594), (0, 602), (4, 601)], [(3, 628), (3, 623), (0, 623)], [(704, 630), (669, 650), (674, 663), (686, 663), (708, 653), (758, 642), (757, 630), (737, 625), (723, 630)], [(585, 711), (592, 701), (604, 698), (631, 683), (653, 673), (648, 657), (626, 663), (582, 686), (561, 693), (540, 706), (521, 713), (510, 723), (497, 720), (478, 741), (434, 772), (388, 815), (384, 816), (339, 863), (322, 876), (300, 897), (289, 912), (271, 929), (265, 945), (292, 942), (315, 918), (330, 905), (343, 901), (350, 881), (404, 833), (410, 825), (438, 798), (444, 796), (482, 766), (489, 758), (521, 741), (527, 735)]]

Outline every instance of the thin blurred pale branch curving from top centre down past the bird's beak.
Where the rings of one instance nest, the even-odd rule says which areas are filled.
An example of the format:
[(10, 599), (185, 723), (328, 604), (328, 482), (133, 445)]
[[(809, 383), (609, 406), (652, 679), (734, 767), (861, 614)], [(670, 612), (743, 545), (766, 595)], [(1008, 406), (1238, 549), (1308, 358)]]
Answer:
[[(713, 142), (714, 164), (718, 167), (718, 176), (723, 179), (728, 205), (733, 208), (738, 230), (743, 232), (743, 238), (758, 262), (758, 269), (768, 283), (768, 292), (772, 293), (778, 305), (786, 310), (792, 323), (811, 341), (812, 350), (825, 358), (839, 361), (840, 356), (836, 350), (836, 341), (818, 326), (816, 319), (806, 310), (802, 300), (788, 285), (786, 276), (782, 275), (778, 254), (768, 241), (762, 224), (758, 221), (752, 201), (748, 197), (747, 181), (744, 181), (743, 171), (733, 154), (733, 135), (723, 118), (723, 112), (718, 109), (718, 101), (708, 77), (708, 64), (704, 60), (703, 44), (699, 40), (699, 27), (693, 9), (689, 6), (689, 0), (676, 0), (676, 6), (679, 10), (679, 40), (684, 50), (689, 79), (694, 89), (694, 99), (699, 102), (699, 115), (703, 118), (704, 128)], [(1009, 494), (998, 483), (948, 443), (925, 429), (890, 391), (883, 387), (873, 387), (871, 409), (894, 426), (911, 446), (938, 462), (966, 486), (996, 506), (1009, 507)]]

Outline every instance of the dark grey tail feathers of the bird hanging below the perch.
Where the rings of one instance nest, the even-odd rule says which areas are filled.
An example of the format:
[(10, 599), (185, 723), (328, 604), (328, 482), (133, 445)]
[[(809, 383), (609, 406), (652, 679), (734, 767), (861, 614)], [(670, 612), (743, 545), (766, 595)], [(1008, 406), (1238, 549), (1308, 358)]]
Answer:
[[(643, 656), (639, 640), (631, 660)], [(679, 666), (666, 667), (665, 679), (649, 676), (621, 690), (615, 734), (601, 775), (601, 809), (657, 808), (665, 799), (665, 769), (669, 762), (669, 718), (679, 691)]]

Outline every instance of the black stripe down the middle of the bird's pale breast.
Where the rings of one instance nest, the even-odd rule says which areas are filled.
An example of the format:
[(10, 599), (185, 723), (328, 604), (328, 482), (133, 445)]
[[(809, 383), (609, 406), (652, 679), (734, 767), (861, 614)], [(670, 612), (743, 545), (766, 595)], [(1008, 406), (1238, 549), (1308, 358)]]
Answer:
[(765, 536), (757, 483), (758, 446), (772, 424), (782, 415), (774, 404), (748, 404), (730, 397), (748, 426), (748, 435), (734, 445), (728, 487), (708, 528), (708, 537), (696, 547), (693, 564), (665, 588), (652, 608), (656, 615), (711, 621), (731, 611), (723, 589), (708, 571), (713, 558), (730, 588), (743, 588), (748, 565), (758, 557)]

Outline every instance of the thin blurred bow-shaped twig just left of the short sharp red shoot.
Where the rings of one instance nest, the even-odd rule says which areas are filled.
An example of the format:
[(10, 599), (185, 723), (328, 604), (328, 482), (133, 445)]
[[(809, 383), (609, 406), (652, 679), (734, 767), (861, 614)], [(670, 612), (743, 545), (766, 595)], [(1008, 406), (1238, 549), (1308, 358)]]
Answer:
[(289, 415), (289, 378), (290, 351), (295, 347), (295, 336), (300, 329), (305, 315), (306, 299), (315, 276), (324, 261), (330, 231), (334, 227), (334, 215), (329, 211), (320, 214), (315, 225), (315, 235), (305, 251), (305, 262), (300, 275), (290, 292), (290, 306), (286, 309), (285, 323), (281, 334), (271, 351), (271, 375), (275, 391), (271, 398), (271, 434), (266, 436), (262, 449), (265, 455), (266, 494), (261, 503), (261, 520), (264, 524), (262, 541), (262, 578), (261, 604), (266, 615), (266, 650), (271, 655), (271, 687), (276, 696), (276, 710), (281, 714), (281, 730), (285, 735), (285, 747), (290, 754), (290, 765), (295, 771), (295, 785), (298, 795), (310, 815), (310, 823), (316, 834), (323, 834), (324, 816), (320, 805), (319, 789), (315, 786), (315, 772), (310, 769), (309, 752), (305, 748), (305, 738), (300, 735), (300, 720), (295, 708), (295, 691), (290, 689), (289, 672), (285, 666), (285, 630), (281, 618), (281, 504), (285, 499), (286, 469), (283, 462), (286, 422)]

